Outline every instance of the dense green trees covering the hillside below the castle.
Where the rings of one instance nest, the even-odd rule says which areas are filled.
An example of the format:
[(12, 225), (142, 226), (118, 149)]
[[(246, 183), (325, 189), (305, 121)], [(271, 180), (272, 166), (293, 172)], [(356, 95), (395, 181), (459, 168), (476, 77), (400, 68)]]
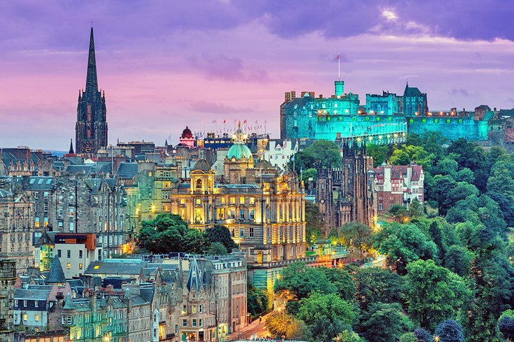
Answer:
[[(308, 154), (320, 162), (315, 148)], [(282, 271), (275, 290), (287, 293), (287, 315), (305, 324), (303, 338), (512, 340), (513, 154), (425, 133), (401, 145), (368, 145), (368, 155), (375, 166), (421, 164), (425, 203), (391, 207), (391, 222), (375, 230), (358, 223), (330, 230), (333, 244), (386, 256), (385, 268), (294, 263)], [(305, 157), (300, 167), (315, 167), (314, 160)], [(319, 211), (306, 210), (309, 235), (318, 237)]]

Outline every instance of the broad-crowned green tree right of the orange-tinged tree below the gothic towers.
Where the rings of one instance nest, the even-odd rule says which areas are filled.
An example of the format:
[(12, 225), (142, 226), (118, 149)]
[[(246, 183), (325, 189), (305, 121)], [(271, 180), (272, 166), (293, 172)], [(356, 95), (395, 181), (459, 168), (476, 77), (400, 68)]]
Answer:
[(408, 263), (437, 256), (437, 246), (413, 224), (384, 225), (373, 239), (375, 249), (387, 255), (387, 265), (394, 266), (399, 275), (405, 274)]

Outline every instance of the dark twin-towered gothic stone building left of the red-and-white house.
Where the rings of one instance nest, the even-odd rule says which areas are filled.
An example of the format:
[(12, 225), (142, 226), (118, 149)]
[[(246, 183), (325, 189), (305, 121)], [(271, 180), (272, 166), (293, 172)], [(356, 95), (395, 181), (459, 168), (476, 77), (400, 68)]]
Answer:
[(318, 168), (316, 203), (325, 223), (324, 235), (344, 223), (372, 223), (374, 192), (368, 180), (372, 159), (366, 156), (365, 144), (344, 142), (340, 169)]

